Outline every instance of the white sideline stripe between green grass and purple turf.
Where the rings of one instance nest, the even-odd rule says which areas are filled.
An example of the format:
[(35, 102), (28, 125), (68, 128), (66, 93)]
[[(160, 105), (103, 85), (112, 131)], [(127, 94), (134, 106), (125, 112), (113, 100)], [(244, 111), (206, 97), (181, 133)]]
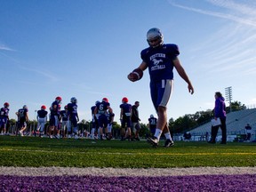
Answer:
[(76, 167), (0, 167), (0, 175), (15, 176), (188, 176), (218, 174), (256, 174), (256, 167), (190, 167), (190, 168), (76, 168)]

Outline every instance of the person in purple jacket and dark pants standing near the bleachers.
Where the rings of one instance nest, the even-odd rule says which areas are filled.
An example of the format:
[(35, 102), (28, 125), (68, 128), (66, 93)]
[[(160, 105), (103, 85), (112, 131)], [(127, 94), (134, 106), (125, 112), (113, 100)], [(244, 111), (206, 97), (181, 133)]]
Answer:
[(215, 92), (215, 107), (214, 107), (214, 119), (220, 118), (220, 125), (212, 126), (212, 137), (209, 143), (216, 143), (216, 136), (221, 129), (222, 138), (220, 144), (227, 144), (227, 125), (226, 125), (226, 104), (225, 99), (220, 92)]

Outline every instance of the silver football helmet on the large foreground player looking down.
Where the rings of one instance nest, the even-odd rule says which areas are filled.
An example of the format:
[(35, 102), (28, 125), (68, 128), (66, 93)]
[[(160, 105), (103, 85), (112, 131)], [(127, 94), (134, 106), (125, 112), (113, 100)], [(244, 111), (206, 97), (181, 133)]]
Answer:
[(147, 41), (149, 46), (156, 48), (164, 44), (164, 36), (159, 28), (150, 28), (147, 33)]

